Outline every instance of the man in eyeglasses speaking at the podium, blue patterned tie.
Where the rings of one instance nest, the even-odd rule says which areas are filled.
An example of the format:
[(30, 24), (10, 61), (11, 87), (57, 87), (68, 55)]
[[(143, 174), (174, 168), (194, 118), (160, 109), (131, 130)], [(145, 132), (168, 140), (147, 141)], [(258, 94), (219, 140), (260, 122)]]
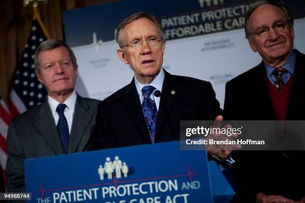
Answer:
[(179, 140), (180, 120), (214, 120), (222, 113), (209, 82), (161, 68), (165, 40), (154, 17), (144, 12), (127, 17), (116, 40), (119, 58), (135, 77), (100, 103), (88, 150)]

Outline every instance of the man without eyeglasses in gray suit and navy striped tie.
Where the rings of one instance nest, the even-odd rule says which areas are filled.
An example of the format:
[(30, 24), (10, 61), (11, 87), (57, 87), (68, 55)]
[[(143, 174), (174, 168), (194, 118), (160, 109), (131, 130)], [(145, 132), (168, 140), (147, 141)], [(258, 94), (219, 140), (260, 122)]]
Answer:
[(34, 62), (48, 99), (9, 124), (8, 192), (25, 191), (24, 159), (81, 152), (95, 123), (99, 101), (82, 98), (74, 91), (78, 66), (71, 48), (63, 41), (47, 40), (37, 48)]

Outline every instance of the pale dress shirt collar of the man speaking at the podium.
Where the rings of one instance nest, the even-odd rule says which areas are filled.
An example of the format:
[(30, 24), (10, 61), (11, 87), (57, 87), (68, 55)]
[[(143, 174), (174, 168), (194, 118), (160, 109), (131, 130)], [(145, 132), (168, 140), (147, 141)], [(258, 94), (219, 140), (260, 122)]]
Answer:
[[(136, 85), (136, 88), (137, 88), (137, 91), (138, 91), (138, 95), (139, 95), (141, 104), (143, 103), (143, 100), (144, 100), (142, 88), (143, 88), (144, 86), (151, 85), (151, 86), (153, 86), (153, 87), (155, 88), (155, 90), (153, 91), (153, 93), (154, 93), (156, 90), (158, 90), (158, 91), (161, 92), (162, 86), (163, 86), (163, 81), (164, 81), (164, 71), (163, 71), (162, 68), (161, 68), (159, 74), (155, 77), (155, 79), (152, 81), (151, 84), (143, 85), (143, 84), (141, 84), (141, 83), (138, 81), (137, 77), (135, 76), (135, 85)], [(160, 97), (155, 97), (153, 93), (150, 95), (150, 98), (155, 102), (155, 105), (156, 105), (156, 107), (157, 107), (157, 110), (159, 110)]]

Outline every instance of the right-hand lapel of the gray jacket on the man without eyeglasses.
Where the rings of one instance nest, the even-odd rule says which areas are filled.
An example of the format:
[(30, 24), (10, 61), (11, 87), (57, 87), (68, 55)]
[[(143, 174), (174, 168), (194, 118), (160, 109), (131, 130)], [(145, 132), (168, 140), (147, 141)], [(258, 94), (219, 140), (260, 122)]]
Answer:
[(77, 146), (85, 134), (85, 130), (87, 129), (91, 119), (93, 119), (93, 115), (87, 112), (88, 109), (89, 105), (87, 102), (77, 95), (69, 141), (70, 153), (76, 152)]

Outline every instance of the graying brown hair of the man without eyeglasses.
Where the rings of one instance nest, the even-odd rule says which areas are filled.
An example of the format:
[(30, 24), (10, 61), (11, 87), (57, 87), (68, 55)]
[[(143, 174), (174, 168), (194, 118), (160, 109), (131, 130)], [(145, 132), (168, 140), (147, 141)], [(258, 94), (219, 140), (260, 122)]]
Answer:
[(63, 42), (61, 40), (49, 39), (49, 40), (42, 42), (35, 51), (35, 54), (34, 54), (35, 73), (40, 73), (38, 54), (41, 51), (45, 51), (45, 50), (49, 51), (49, 50), (53, 50), (53, 49), (56, 49), (61, 46), (65, 47), (68, 50), (74, 68), (77, 67), (76, 57), (75, 57), (72, 49), (65, 42)]

